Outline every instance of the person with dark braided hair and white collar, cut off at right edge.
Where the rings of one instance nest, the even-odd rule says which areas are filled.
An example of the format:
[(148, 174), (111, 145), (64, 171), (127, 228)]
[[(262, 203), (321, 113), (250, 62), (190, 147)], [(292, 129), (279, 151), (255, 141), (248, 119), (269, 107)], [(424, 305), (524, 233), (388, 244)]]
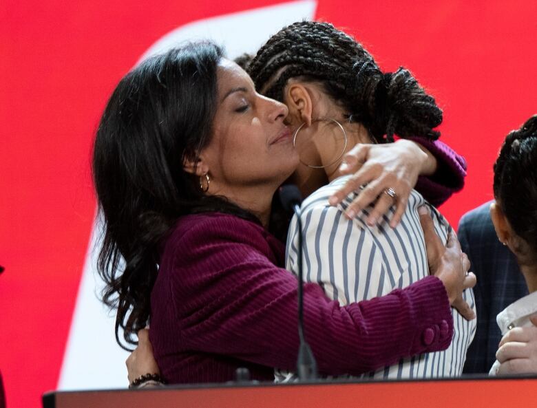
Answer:
[[(516, 182), (514, 182), (516, 180)], [(490, 215), (529, 294), (496, 318), (503, 339), (490, 374), (537, 373), (537, 115), (507, 135), (494, 164)]]

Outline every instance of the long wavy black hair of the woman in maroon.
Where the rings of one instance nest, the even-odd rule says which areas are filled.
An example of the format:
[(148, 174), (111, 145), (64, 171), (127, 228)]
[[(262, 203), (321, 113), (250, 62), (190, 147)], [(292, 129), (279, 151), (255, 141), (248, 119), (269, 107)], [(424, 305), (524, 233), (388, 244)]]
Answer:
[(105, 232), (98, 273), (103, 301), (117, 308), (116, 341), (149, 318), (159, 247), (178, 217), (203, 211), (253, 215), (205, 195), (200, 180), (183, 170), (211, 140), (217, 67), (222, 50), (193, 43), (153, 56), (114, 90), (96, 133), (93, 175)]

